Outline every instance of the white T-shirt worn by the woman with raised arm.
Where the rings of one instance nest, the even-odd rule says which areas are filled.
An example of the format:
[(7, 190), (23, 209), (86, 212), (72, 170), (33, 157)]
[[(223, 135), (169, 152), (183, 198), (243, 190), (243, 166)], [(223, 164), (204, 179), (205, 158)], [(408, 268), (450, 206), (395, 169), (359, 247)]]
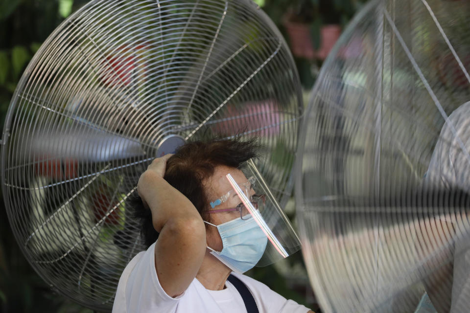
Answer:
[[(253, 294), (259, 313), (305, 313), (309, 309), (287, 300), (266, 285), (241, 274), (234, 274)], [(172, 298), (165, 293), (155, 270), (155, 243), (139, 252), (124, 268), (119, 279), (113, 313), (246, 313), (243, 299), (227, 281), (220, 291), (207, 290), (197, 279), (183, 294)]]

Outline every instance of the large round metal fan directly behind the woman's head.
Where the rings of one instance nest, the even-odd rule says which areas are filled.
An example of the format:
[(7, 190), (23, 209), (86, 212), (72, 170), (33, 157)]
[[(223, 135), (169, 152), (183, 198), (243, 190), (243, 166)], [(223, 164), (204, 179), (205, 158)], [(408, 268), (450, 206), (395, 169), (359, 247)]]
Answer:
[(288, 199), (298, 74), (250, 0), (91, 1), (46, 40), (11, 101), (1, 179), (11, 227), (50, 286), (110, 310), (144, 247), (126, 200), (188, 140), (257, 136), (258, 169)]

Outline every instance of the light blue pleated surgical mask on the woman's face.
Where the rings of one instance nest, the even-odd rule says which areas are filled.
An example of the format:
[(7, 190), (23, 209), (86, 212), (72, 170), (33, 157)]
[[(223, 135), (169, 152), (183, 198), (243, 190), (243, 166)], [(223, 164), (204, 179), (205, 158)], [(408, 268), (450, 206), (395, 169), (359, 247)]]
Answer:
[(246, 272), (263, 256), (268, 239), (255, 219), (237, 218), (219, 225), (204, 222), (217, 227), (222, 238), (222, 251), (215, 251), (208, 246), (212, 250), (211, 254), (234, 272)]

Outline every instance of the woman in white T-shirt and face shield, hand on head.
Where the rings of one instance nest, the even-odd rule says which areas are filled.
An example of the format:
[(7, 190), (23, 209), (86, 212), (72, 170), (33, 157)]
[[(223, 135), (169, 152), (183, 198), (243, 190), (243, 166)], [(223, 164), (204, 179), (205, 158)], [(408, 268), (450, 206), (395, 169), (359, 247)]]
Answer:
[(113, 313), (248, 312), (247, 297), (229, 275), (248, 288), (260, 313), (312, 312), (241, 274), (277, 241), (271, 230), (258, 227), (264, 222), (257, 212), (244, 215), (250, 205), (240, 203), (225, 179), (231, 174), (236, 184), (248, 186), (252, 209), (258, 209), (261, 197), (237, 169), (255, 149), (254, 140), (192, 142), (149, 165), (137, 185), (149, 247), (122, 272)]

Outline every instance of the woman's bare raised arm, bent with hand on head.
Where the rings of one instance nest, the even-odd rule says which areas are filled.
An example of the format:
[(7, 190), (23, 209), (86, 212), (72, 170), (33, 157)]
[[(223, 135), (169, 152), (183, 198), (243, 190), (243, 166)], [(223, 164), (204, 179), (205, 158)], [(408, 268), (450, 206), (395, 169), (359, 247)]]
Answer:
[(164, 291), (174, 297), (188, 288), (206, 251), (206, 229), (199, 212), (181, 192), (163, 179), (164, 167), (156, 159), (137, 189), (152, 211), (152, 224), (160, 233), (155, 244), (155, 269)]

